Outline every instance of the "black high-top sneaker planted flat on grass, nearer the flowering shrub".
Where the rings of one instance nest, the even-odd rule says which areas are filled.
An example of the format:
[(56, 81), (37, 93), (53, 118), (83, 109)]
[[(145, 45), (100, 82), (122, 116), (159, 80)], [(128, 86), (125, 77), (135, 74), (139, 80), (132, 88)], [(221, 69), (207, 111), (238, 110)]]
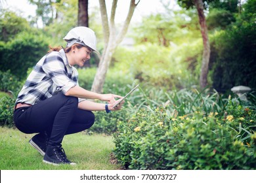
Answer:
[(76, 165), (67, 159), (66, 154), (62, 146), (48, 146), (47, 152), (43, 157), (44, 163), (49, 163), (51, 165), (69, 164)]

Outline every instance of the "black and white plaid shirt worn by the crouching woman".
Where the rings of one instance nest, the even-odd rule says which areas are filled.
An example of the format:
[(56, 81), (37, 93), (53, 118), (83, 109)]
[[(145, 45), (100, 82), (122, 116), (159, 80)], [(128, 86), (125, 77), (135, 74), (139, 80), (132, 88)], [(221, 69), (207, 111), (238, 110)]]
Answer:
[(66, 93), (75, 85), (79, 86), (78, 72), (69, 65), (64, 49), (51, 52), (37, 62), (18, 93), (16, 103), (34, 105), (58, 92)]

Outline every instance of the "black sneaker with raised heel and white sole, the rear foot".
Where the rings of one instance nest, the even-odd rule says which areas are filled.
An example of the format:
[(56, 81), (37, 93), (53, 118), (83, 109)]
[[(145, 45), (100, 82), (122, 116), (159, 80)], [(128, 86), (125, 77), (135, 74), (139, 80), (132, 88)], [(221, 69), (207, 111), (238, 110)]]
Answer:
[(47, 141), (47, 135), (38, 133), (28, 142), (30, 142), (30, 145), (32, 145), (42, 156), (45, 156)]

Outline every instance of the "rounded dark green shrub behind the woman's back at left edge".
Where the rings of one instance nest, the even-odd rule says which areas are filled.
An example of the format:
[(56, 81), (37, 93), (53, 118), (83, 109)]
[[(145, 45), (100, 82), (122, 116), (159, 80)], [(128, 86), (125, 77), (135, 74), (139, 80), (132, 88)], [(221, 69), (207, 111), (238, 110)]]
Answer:
[(39, 33), (19, 33), (9, 42), (0, 42), (0, 71), (10, 70), (12, 75), (24, 79), (28, 68), (33, 67), (47, 50), (47, 41)]

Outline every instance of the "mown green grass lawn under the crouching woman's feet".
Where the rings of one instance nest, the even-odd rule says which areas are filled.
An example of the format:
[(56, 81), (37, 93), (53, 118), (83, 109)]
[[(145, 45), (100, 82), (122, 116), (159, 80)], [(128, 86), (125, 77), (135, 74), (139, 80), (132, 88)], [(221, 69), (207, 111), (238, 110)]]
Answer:
[(112, 136), (66, 135), (62, 146), (70, 161), (77, 165), (48, 165), (43, 156), (28, 141), (34, 134), (24, 134), (17, 129), (0, 127), (0, 169), (1, 170), (116, 170), (119, 165), (110, 163), (114, 148)]

